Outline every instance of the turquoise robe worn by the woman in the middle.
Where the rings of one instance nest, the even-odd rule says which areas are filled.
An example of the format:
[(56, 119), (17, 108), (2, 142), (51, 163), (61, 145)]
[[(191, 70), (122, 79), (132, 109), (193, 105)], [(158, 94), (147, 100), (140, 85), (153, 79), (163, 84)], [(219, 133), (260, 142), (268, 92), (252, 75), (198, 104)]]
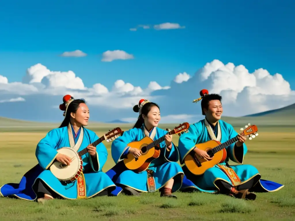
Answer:
[[(172, 192), (180, 189), (183, 179), (183, 171), (181, 166), (176, 163), (179, 159), (179, 153), (177, 148), (172, 143), (171, 151), (167, 151), (165, 141), (160, 143), (160, 156), (154, 159), (149, 168), (153, 170), (153, 180), (155, 183), (155, 189), (149, 190), (148, 187), (148, 173), (147, 171), (142, 171), (140, 173), (128, 170), (122, 160), (124, 156), (128, 153), (129, 144), (132, 141), (140, 141), (145, 136), (150, 137), (154, 141), (158, 138), (164, 136), (167, 131), (154, 127), (150, 132), (142, 125), (141, 128), (133, 128), (129, 131), (125, 131), (122, 136), (115, 139), (112, 143), (112, 158), (116, 165), (106, 172), (109, 177), (112, 178), (113, 182), (118, 185), (123, 185), (130, 187), (139, 192), (154, 192), (155, 190), (164, 187), (165, 184), (171, 178), (174, 179), (174, 184), (172, 187)], [(179, 178), (179, 179), (176, 179)], [(117, 187), (112, 194), (117, 195), (121, 192), (122, 188)]]

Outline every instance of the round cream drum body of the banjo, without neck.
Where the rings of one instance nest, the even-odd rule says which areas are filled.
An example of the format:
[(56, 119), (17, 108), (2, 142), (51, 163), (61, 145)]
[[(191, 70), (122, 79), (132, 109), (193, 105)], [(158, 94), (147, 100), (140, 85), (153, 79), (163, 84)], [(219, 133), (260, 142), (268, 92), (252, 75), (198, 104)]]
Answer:
[(83, 161), (81, 156), (79, 156), (79, 154), (70, 147), (63, 147), (57, 151), (59, 154), (67, 155), (72, 161), (70, 165), (65, 165), (55, 161), (50, 166), (49, 170), (60, 181), (64, 181), (66, 183), (74, 182), (76, 179), (78, 179), (83, 171)]

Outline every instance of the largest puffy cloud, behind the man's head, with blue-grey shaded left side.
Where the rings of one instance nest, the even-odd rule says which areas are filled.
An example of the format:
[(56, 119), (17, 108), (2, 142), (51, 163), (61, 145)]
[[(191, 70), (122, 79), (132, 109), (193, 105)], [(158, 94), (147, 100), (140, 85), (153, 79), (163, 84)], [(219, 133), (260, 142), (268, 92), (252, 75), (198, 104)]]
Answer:
[(187, 114), (200, 114), (200, 103), (192, 103), (192, 100), (199, 98), (201, 89), (222, 95), (224, 115), (227, 116), (281, 108), (294, 103), (295, 98), (295, 92), (281, 74), (271, 75), (262, 68), (250, 73), (243, 65), (223, 64), (219, 60), (208, 62), (193, 77), (178, 83), (180, 79), (175, 79), (170, 89), (151, 94), (160, 96), (159, 103), (170, 104), (165, 111), (185, 107)]

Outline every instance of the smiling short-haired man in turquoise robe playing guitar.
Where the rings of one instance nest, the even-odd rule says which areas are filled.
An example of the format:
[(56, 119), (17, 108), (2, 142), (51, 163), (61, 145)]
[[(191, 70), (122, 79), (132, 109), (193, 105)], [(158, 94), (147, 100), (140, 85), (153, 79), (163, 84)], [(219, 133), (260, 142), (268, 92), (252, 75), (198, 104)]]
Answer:
[[(197, 157), (212, 159), (206, 151), (195, 148), (195, 144), (204, 143), (209, 140), (217, 140), (221, 143), (238, 135), (232, 125), (222, 121), (223, 112), (221, 100), (218, 94), (209, 94), (208, 90), (200, 91), (202, 114), (205, 119), (191, 124), (188, 133), (183, 133), (179, 138), (178, 150), (181, 164), (187, 154), (194, 151)], [(221, 193), (236, 198), (256, 199), (254, 192), (270, 192), (281, 189), (283, 185), (260, 179), (261, 175), (252, 165), (229, 166), (229, 159), (235, 163), (242, 164), (247, 146), (246, 137), (239, 135), (239, 140), (226, 147), (227, 158), (219, 166), (215, 165), (205, 171), (204, 174), (196, 176), (192, 174), (185, 164), (182, 169), (185, 173), (181, 191), (199, 190), (209, 193)]]

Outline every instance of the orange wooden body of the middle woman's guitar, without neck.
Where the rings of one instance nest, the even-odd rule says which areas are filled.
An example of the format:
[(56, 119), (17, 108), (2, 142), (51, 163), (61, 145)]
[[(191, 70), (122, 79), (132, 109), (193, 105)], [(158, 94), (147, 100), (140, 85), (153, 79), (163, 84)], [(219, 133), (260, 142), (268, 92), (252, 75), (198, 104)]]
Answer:
[(132, 154), (127, 154), (127, 158), (123, 160), (125, 166), (137, 172), (146, 170), (152, 160), (160, 156), (160, 147), (158, 145), (147, 151), (146, 147), (151, 143), (153, 143), (153, 140), (149, 137), (144, 137), (140, 141), (130, 142), (128, 146), (139, 149), (142, 153), (139, 158), (135, 158)]

